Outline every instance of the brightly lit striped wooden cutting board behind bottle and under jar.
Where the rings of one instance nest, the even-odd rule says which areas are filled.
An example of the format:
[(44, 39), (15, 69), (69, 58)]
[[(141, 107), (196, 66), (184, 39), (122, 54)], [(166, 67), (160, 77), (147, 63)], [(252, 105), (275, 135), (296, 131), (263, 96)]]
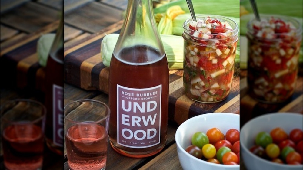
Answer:
[[(119, 33), (122, 27), (119, 21), (108, 28), (93, 34), (64, 49), (65, 82), (85, 90), (100, 90), (108, 94), (109, 68), (102, 63), (101, 41), (110, 33)], [(171, 70), (169, 78), (169, 119), (181, 124), (193, 116), (228, 112), (239, 114), (239, 77), (234, 77), (232, 90), (227, 99), (219, 103), (198, 103), (184, 93), (183, 70)]]

